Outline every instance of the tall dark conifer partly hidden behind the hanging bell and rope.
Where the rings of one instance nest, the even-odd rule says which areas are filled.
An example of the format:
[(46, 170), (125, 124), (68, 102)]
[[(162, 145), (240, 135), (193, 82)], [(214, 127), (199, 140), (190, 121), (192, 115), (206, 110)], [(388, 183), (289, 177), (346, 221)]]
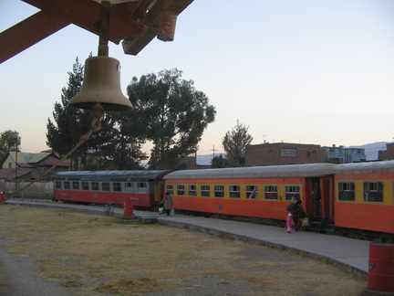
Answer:
[[(82, 87), (83, 66), (78, 58), (73, 64), (72, 72), (68, 72), (67, 88), (62, 89), (61, 103), (55, 103), (53, 117), (47, 123), (47, 145), (60, 155), (68, 153), (80, 137), (88, 132), (93, 120), (90, 111), (69, 107), (68, 101)], [(143, 153), (135, 153), (139, 146), (134, 146), (127, 134), (119, 133), (122, 117), (117, 113), (105, 113), (101, 118), (101, 129), (93, 132), (87, 142), (82, 143), (72, 157), (73, 168), (79, 169), (79, 159), (85, 164), (84, 169), (135, 169), (140, 168)], [(90, 159), (87, 161), (88, 152)], [(139, 158), (140, 157), (140, 158)]]

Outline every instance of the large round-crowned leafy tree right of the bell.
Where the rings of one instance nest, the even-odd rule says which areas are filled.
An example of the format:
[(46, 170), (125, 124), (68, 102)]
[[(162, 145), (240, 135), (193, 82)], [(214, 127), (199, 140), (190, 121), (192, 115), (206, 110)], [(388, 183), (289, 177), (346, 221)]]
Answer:
[(128, 95), (130, 122), (153, 143), (150, 169), (179, 169), (181, 157), (195, 153), (202, 132), (215, 119), (215, 108), (178, 69), (134, 77)]

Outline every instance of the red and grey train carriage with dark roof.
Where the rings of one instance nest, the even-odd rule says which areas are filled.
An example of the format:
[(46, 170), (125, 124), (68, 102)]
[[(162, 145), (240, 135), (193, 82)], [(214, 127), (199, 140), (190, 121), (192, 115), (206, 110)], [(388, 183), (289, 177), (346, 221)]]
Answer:
[(150, 207), (163, 196), (162, 177), (170, 171), (60, 172), (53, 175), (55, 199), (63, 202)]

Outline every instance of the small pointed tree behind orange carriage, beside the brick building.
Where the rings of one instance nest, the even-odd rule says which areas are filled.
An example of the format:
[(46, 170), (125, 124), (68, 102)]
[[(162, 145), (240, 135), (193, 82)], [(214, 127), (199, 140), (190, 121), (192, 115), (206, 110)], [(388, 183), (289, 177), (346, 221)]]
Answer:
[(229, 166), (244, 166), (246, 145), (253, 141), (253, 137), (248, 133), (249, 127), (245, 127), (238, 122), (231, 132), (226, 132), (223, 137), (223, 149), (227, 153)]

